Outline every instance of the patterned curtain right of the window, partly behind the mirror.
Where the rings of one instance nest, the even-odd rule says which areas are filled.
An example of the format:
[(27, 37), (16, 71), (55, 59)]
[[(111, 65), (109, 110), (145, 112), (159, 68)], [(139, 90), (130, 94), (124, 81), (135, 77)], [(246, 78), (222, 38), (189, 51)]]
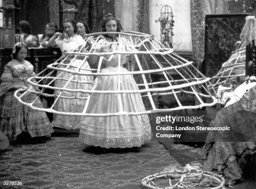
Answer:
[(190, 22), (192, 35), (193, 59), (198, 63), (205, 53), (205, 15), (227, 14), (227, 1), (190, 0)]

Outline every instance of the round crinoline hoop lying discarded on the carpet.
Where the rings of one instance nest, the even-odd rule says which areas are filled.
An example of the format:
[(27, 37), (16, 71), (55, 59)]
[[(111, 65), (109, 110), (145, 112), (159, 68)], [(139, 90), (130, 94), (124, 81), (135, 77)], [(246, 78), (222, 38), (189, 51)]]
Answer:
[[(200, 181), (197, 177), (200, 177)], [(155, 183), (160, 179), (169, 179), (169, 185), (166, 187), (159, 186)], [(172, 179), (176, 180), (175, 184), (172, 184)], [(216, 186), (207, 189), (225, 189), (224, 176), (209, 172), (201, 171), (199, 169), (193, 169), (192, 171), (165, 171), (161, 173), (151, 174), (141, 180), (141, 187), (143, 189), (192, 189), (195, 186), (207, 186), (207, 181), (215, 183)]]

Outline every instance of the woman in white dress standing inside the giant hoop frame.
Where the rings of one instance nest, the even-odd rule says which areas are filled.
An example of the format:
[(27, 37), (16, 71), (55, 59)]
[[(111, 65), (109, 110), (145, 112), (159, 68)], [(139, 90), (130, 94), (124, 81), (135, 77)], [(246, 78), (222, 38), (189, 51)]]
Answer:
[[(122, 26), (120, 20), (109, 14), (102, 22), (102, 30), (106, 32), (120, 32)], [(106, 43), (107, 40), (107, 43)], [(117, 43), (120, 41), (120, 43)], [(132, 50), (131, 44), (127, 44), (125, 38), (118, 35), (106, 35), (105, 39), (99, 40), (94, 52), (112, 52), (115, 49), (123, 51)], [(119, 46), (120, 45), (120, 46)], [(135, 49), (134, 49), (135, 50)], [(123, 65), (126, 63), (126, 55), (120, 55), (120, 68), (118, 67), (118, 54), (113, 55), (109, 60), (109, 55), (104, 55), (103, 68), (101, 73), (128, 72)], [(98, 58), (89, 57), (93, 62)], [(93, 88), (95, 91), (117, 91), (118, 82), (120, 90), (138, 90), (132, 75), (98, 76), (95, 79)], [(122, 93), (123, 111), (138, 112), (145, 111), (141, 95), (139, 93)], [(86, 113), (115, 113), (120, 110), (117, 93), (93, 93), (88, 103)], [(148, 115), (136, 116), (106, 116), (106, 117), (84, 117), (81, 121), (79, 138), (86, 144), (100, 146), (102, 148), (131, 148), (141, 146), (145, 141), (151, 140), (151, 126)]]

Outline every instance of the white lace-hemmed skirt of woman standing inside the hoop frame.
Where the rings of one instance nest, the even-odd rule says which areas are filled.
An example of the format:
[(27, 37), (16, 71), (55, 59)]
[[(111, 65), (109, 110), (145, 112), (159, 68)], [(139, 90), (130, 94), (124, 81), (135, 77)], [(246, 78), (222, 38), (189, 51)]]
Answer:
[[(121, 68), (121, 72), (128, 71)], [(101, 72), (118, 72), (118, 67), (107, 67)], [(136, 82), (131, 75), (99, 76), (95, 79), (94, 90), (116, 91), (138, 90)], [(120, 95), (123, 111), (145, 111), (141, 95), (139, 93), (122, 93)], [(86, 113), (116, 113), (120, 111), (120, 103), (117, 93), (94, 93)], [(141, 146), (151, 139), (151, 126), (148, 115), (137, 116), (99, 116), (83, 117), (80, 126), (79, 138), (86, 144), (104, 148), (131, 148)]]

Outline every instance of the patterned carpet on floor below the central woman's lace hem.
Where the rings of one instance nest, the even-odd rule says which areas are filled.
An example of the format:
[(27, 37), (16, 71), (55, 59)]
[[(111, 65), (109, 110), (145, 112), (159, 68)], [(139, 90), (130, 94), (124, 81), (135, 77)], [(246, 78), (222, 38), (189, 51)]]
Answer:
[(143, 177), (179, 164), (154, 139), (140, 148), (105, 151), (63, 137), (11, 148), (0, 154), (0, 180), (23, 181), (16, 188), (26, 189), (140, 189)]

